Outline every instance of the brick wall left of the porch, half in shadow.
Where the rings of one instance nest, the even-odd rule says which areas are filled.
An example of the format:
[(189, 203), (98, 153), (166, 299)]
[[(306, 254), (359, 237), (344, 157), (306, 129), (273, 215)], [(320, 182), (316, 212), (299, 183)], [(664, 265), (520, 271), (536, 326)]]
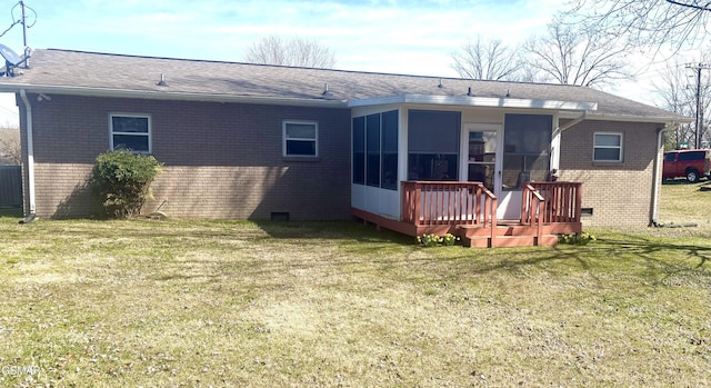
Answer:
[[(40, 217), (100, 211), (87, 179), (96, 157), (108, 150), (111, 112), (152, 118), (153, 156), (166, 172), (153, 182), (156, 199), (146, 211), (163, 203), (161, 210), (179, 218), (269, 219), (272, 212), (289, 212), (291, 219), (349, 217), (348, 109), (51, 98), (30, 96)], [(318, 121), (317, 160), (282, 157), (284, 119)]]

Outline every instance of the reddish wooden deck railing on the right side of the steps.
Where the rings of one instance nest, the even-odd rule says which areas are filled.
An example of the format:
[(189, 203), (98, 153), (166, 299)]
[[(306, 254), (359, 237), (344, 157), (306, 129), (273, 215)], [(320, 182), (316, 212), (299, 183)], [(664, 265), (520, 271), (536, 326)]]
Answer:
[[(532, 196), (538, 193), (544, 201), (542, 210), (532, 209), (537, 206)], [(533, 217), (542, 222), (580, 222), (580, 206), (582, 203), (582, 183), (578, 182), (527, 182), (523, 186), (521, 202), (521, 222), (532, 225)]]

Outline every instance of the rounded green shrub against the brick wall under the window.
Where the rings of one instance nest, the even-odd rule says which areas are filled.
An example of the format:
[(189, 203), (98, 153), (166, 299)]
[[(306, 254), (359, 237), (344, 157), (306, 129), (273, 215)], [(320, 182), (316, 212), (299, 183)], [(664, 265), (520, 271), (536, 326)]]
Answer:
[(151, 198), (149, 186), (161, 171), (162, 163), (152, 156), (108, 151), (97, 157), (91, 186), (109, 217), (133, 217)]

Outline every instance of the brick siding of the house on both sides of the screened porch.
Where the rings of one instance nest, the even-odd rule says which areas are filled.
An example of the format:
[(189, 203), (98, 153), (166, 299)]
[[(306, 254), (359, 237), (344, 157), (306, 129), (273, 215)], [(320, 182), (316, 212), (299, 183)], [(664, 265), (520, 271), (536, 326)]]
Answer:
[[(178, 218), (346, 219), (350, 209), (350, 110), (243, 103), (159, 101), (54, 94), (33, 109), (37, 213), (101, 213), (87, 181), (109, 147), (111, 112), (152, 118), (153, 156), (166, 172), (144, 210)], [(21, 105), (21, 101), (20, 101)], [(23, 111), (21, 109), (21, 111)], [(282, 157), (282, 120), (319, 123), (319, 158)], [(561, 122), (563, 123), (563, 122)], [(27, 126), (21, 115), (21, 127)], [(583, 183), (590, 226), (647, 226), (659, 125), (583, 121), (561, 136), (560, 179)], [(593, 133), (623, 133), (623, 162), (592, 162)], [(27, 152), (27, 132), (22, 150)], [(23, 156), (27, 160), (27, 155)], [(27, 169), (24, 192), (27, 189)], [(28, 203), (26, 203), (27, 206)]]

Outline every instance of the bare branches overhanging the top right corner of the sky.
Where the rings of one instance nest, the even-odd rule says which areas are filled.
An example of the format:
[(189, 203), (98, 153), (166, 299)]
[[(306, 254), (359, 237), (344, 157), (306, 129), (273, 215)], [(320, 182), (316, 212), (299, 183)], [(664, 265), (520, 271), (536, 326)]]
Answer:
[(708, 0), (571, 0), (567, 17), (584, 20), (638, 46), (694, 46), (708, 32)]

